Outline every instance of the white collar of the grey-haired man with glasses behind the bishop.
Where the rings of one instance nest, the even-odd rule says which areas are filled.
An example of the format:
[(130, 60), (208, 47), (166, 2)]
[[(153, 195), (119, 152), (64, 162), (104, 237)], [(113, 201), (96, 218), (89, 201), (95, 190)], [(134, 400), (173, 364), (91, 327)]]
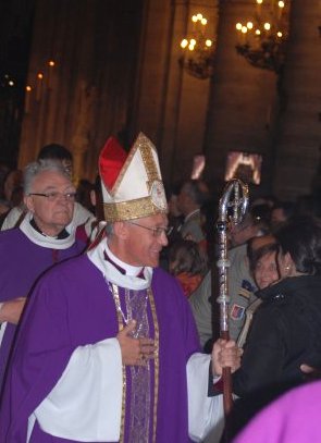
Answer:
[(36, 245), (50, 249), (66, 249), (75, 243), (75, 230), (70, 234), (66, 232), (66, 236), (63, 232), (57, 237), (50, 237), (40, 232), (33, 219), (32, 212), (27, 212), (18, 229)]

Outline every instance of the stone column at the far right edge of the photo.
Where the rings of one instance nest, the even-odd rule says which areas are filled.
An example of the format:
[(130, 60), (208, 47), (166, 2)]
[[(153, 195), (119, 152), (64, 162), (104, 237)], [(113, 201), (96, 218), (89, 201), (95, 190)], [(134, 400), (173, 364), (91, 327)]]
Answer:
[(292, 2), (283, 76), (286, 102), (280, 118), (274, 192), (281, 199), (309, 194), (321, 140), (320, 0)]

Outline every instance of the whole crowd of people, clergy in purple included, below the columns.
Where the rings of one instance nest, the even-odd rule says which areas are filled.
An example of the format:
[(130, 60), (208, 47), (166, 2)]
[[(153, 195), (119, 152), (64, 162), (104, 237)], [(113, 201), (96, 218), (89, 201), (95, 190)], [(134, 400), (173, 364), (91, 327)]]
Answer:
[(227, 341), (220, 189), (166, 189), (144, 134), (129, 152), (109, 138), (98, 171), (75, 187), (72, 155), (53, 144), (3, 174), (0, 441), (255, 441), (263, 408), (320, 373), (320, 196), (250, 198), (231, 221)]

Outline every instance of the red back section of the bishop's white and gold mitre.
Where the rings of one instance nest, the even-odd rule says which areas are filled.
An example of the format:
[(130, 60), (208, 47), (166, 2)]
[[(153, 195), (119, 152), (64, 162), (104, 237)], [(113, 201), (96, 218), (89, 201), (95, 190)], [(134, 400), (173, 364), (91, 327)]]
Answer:
[(99, 156), (99, 174), (104, 186), (112, 189), (126, 161), (127, 152), (115, 137), (110, 137)]

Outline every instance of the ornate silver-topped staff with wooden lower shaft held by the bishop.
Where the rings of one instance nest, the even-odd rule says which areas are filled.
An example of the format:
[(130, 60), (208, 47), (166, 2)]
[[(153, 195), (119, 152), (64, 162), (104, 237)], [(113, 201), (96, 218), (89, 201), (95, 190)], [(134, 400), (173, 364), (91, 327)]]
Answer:
[[(220, 335), (224, 340), (230, 339), (229, 334), (229, 306), (230, 296), (227, 287), (227, 269), (230, 261), (227, 258), (227, 231), (231, 225), (238, 224), (246, 212), (248, 206), (248, 187), (240, 180), (234, 179), (229, 182), (220, 199), (219, 220), (217, 224), (219, 239), (219, 297), (220, 304)], [(232, 378), (231, 368), (223, 368), (223, 403), (225, 416), (232, 409)]]

